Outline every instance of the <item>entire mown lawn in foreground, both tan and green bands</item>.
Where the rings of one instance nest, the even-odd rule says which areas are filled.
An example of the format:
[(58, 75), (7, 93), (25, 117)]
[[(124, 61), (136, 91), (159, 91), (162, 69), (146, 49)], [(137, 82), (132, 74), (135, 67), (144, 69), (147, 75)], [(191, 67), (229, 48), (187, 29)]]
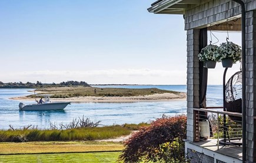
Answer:
[[(120, 142), (1, 142), (2, 162), (116, 162), (124, 145)], [(109, 152), (100, 152), (109, 151)], [(53, 154), (40, 154), (52, 152)], [(74, 152), (59, 153), (58, 152)], [(75, 153), (77, 152), (77, 153)], [(36, 154), (29, 154), (36, 153)]]

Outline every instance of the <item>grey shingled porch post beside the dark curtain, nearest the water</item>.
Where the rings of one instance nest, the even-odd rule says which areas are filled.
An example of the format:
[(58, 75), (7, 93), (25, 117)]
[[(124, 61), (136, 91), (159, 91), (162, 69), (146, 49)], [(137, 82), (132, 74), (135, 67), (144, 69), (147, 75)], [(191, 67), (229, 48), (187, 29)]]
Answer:
[(199, 35), (200, 29), (187, 31), (187, 140), (195, 141), (193, 108), (199, 108)]

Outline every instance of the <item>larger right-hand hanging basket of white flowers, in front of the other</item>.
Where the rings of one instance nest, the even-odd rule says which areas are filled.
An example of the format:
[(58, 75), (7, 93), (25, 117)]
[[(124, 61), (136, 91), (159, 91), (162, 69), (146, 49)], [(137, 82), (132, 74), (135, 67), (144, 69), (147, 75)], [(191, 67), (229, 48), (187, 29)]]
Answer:
[(241, 46), (227, 41), (216, 49), (213, 58), (216, 61), (221, 61), (223, 67), (231, 68), (232, 64), (235, 64), (237, 61), (241, 62), (241, 52)]

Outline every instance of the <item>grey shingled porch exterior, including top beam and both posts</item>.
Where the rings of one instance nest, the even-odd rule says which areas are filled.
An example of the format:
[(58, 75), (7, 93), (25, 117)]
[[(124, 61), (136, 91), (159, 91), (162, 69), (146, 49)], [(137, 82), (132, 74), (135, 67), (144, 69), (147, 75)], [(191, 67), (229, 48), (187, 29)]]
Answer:
[[(193, 107), (199, 99), (199, 29), (225, 22), (232, 17), (241, 17), (241, 7), (237, 2), (228, 0), (204, 2), (185, 12), (185, 30), (187, 30), (187, 139), (194, 140)], [(245, 2), (246, 13), (246, 105), (247, 105), (247, 159), (256, 162), (256, 135), (254, 104), (256, 104), (256, 1)], [(255, 97), (255, 98), (254, 98)], [(255, 141), (254, 141), (255, 140)]]

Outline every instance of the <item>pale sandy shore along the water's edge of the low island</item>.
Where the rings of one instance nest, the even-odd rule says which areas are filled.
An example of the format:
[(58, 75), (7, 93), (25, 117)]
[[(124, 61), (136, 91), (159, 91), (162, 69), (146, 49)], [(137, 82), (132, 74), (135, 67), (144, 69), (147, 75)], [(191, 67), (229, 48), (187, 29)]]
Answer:
[[(86, 103), (86, 102), (138, 102), (138, 101), (168, 101), (173, 99), (185, 99), (187, 97), (186, 93), (181, 92), (179, 94), (153, 94), (144, 95), (138, 97), (72, 97), (72, 98), (51, 98), (53, 102), (73, 102), (73, 103)], [(35, 101), (35, 98), (29, 97), (14, 97), (10, 98), (20, 101)], [(38, 98), (39, 99), (39, 98)]]

